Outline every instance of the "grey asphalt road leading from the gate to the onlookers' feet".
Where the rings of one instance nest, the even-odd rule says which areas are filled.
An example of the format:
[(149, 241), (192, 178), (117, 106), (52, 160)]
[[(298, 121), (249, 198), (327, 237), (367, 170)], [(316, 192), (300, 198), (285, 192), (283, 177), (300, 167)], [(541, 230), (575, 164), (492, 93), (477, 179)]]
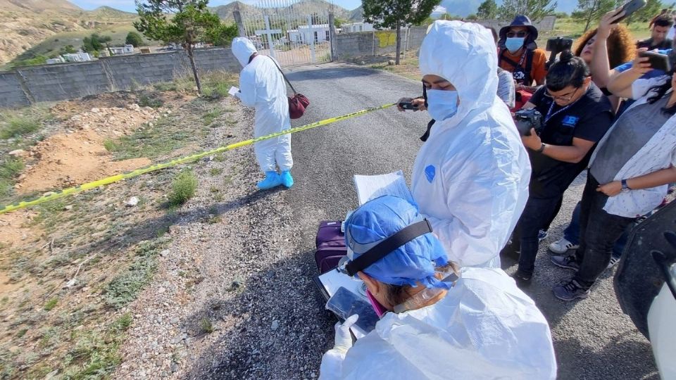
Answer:
[[(420, 84), (387, 72), (353, 65), (318, 65), (289, 72), (289, 80), (308, 96), (311, 106), (294, 126), (394, 102), (401, 96), (420, 94)], [(352, 176), (403, 170), (411, 179), (413, 160), (425, 130), (425, 113), (381, 110), (359, 118), (296, 134), (292, 140), (296, 185), (287, 191), (287, 202), (301, 237), (298, 252), (312, 251), (320, 220), (342, 219), (356, 207)], [(570, 277), (554, 267), (546, 246), (561, 237), (572, 208), (582, 194), (579, 178), (565, 194), (561, 213), (549, 238), (541, 244), (533, 284), (525, 289), (534, 298), (551, 326), (558, 360), (559, 379), (659, 379), (649, 342), (622, 314), (615, 298), (612, 274), (603, 275), (592, 296), (564, 303), (551, 287)], [(507, 269), (512, 273), (515, 267)], [(323, 308), (318, 298), (317, 308)], [(327, 315), (327, 318), (329, 316)], [(320, 324), (330, 326), (331, 320)], [(333, 340), (332, 329), (316, 331), (317, 339)]]

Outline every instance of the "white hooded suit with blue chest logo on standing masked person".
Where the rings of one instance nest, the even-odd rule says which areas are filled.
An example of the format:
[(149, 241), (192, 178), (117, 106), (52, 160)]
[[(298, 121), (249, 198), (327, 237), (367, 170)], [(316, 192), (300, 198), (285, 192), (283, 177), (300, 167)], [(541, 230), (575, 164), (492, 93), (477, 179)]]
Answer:
[(528, 198), (530, 160), (496, 96), (497, 55), (481, 25), (436, 21), (420, 47), (420, 71), (458, 91), (455, 115), (434, 124), (418, 152), (411, 189), (449, 260), (499, 267), (499, 252)]

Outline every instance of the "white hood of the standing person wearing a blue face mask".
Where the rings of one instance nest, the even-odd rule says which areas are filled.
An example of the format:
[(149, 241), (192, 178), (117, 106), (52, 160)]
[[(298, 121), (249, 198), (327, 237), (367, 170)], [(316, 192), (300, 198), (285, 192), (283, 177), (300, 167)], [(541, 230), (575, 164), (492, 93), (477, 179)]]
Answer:
[(458, 91), (458, 112), (444, 120), (444, 127), (458, 124), (470, 111), (492, 106), (498, 89), (497, 69), (493, 36), (482, 25), (435, 21), (420, 46), (420, 72), (439, 75)]

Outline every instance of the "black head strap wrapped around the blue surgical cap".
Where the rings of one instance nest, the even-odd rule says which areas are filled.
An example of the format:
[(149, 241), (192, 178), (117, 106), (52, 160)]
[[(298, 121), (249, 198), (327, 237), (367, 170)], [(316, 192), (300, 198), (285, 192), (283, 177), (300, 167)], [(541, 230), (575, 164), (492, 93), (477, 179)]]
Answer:
[(403, 246), (418, 236), (429, 234), (430, 232), (432, 232), (432, 226), (427, 219), (413, 223), (406, 228), (401, 229), (401, 231), (396, 234), (389, 236), (389, 238), (384, 239), (355, 260), (348, 262), (345, 270), (350, 276), (354, 276), (357, 272), (365, 270), (373, 265), (374, 262), (389, 255), (389, 253), (392, 253), (396, 248)]

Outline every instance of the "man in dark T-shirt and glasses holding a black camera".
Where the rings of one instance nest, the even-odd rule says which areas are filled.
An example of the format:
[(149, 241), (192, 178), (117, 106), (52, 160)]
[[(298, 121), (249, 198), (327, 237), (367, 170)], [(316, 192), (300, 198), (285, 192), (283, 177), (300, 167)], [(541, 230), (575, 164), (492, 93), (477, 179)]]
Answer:
[(561, 53), (524, 110), (515, 114), (532, 165), (529, 198), (506, 253), (520, 251), (515, 278), (530, 281), (537, 234), (556, 210), (565, 189), (586, 167), (592, 148), (611, 126), (611, 103), (592, 82), (589, 67), (568, 50)]

